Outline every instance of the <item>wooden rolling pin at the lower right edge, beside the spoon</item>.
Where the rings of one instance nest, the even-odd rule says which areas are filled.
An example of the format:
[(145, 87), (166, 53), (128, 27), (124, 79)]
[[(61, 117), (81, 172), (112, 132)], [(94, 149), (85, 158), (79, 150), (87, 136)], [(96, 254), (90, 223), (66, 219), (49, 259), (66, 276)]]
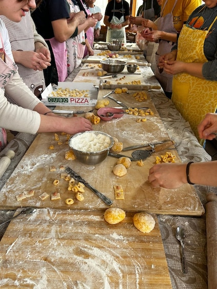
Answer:
[(217, 195), (208, 193), (206, 196), (206, 239), (208, 289), (217, 288)]

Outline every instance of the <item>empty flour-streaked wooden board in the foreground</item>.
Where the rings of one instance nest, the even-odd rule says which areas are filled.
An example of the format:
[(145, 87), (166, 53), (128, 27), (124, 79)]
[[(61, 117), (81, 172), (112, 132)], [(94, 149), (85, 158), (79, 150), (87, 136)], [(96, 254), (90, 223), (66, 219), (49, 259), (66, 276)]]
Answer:
[(133, 214), (40, 209), (11, 221), (0, 244), (1, 288), (171, 288), (161, 233), (141, 233)]

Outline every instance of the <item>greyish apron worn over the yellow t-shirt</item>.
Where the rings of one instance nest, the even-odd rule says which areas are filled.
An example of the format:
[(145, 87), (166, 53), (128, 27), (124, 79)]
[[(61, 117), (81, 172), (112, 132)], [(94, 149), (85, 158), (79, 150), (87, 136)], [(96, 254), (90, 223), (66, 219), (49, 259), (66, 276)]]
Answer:
[[(167, 4), (167, 1), (164, 3), (164, 7), (162, 9), (161, 14), (163, 13), (163, 10)], [(177, 1), (178, 0), (175, 1), (174, 5), (172, 7), (172, 11), (176, 6)], [(177, 33), (177, 31), (173, 25), (172, 11), (170, 13), (166, 14), (164, 17), (162, 17), (162, 16), (160, 17), (160, 19), (158, 20), (158, 30), (169, 32), (169, 33)], [(172, 92), (172, 77), (173, 76), (172, 76), (172, 74), (165, 73), (163, 70), (159, 71), (157, 67), (158, 67), (158, 62), (159, 62), (160, 56), (163, 54), (169, 53), (174, 45), (175, 45), (174, 42), (161, 39), (159, 41), (158, 51), (156, 52), (157, 66), (156, 66), (155, 76), (158, 79), (158, 81), (160, 82), (160, 84), (161, 84), (161, 86), (165, 92)]]

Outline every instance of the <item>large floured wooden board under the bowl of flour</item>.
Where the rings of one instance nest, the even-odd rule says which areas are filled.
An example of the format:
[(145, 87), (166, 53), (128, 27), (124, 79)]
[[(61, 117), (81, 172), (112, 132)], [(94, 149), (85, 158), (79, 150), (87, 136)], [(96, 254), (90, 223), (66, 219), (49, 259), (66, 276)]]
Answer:
[[(99, 99), (108, 91), (100, 91)], [(138, 117), (134, 115), (124, 115), (119, 119), (111, 121), (101, 121), (94, 125), (94, 130), (103, 131), (112, 137), (116, 137), (123, 143), (124, 147), (143, 143), (155, 143), (169, 139), (167, 131), (148, 96), (142, 103), (135, 101), (132, 95), (115, 95), (115, 98), (123, 101), (129, 106), (145, 105), (150, 107), (154, 115), (146, 116), (146, 122), (138, 123)], [(111, 106), (116, 103), (110, 102)], [(116, 104), (117, 105), (117, 104)], [(61, 108), (61, 107), (58, 107)], [(76, 108), (77, 109), (77, 108)], [(79, 109), (79, 108), (78, 108)], [(95, 112), (96, 114), (96, 112)], [(62, 144), (55, 141), (54, 134), (39, 134), (23, 159), (20, 161), (8, 182), (0, 192), (0, 208), (14, 209), (20, 206), (35, 206), (38, 208), (59, 208), (59, 209), (84, 209), (84, 210), (104, 210), (107, 208), (92, 191), (85, 188), (84, 201), (79, 202), (75, 198), (75, 193), (68, 191), (68, 182), (60, 179), (63, 172), (60, 166), (69, 166), (85, 181), (91, 184), (101, 193), (113, 200), (114, 207), (120, 207), (126, 211), (147, 211), (158, 214), (178, 214), (178, 215), (202, 215), (203, 205), (191, 185), (184, 185), (179, 189), (168, 190), (163, 188), (151, 189), (147, 182), (148, 172), (156, 162), (157, 155), (163, 155), (167, 150), (160, 153), (153, 153), (144, 161), (144, 166), (140, 167), (136, 162), (132, 162), (127, 169), (127, 174), (118, 177), (113, 173), (113, 167), (117, 159), (108, 156), (102, 163), (97, 165), (84, 165), (78, 160), (69, 161), (64, 158), (69, 150), (67, 136), (58, 134)], [(54, 149), (49, 149), (53, 145)], [(176, 150), (169, 150), (176, 155), (176, 160), (180, 162)], [(132, 151), (124, 152), (131, 156)], [(55, 166), (56, 171), (50, 171), (50, 166)], [(54, 180), (59, 180), (59, 185), (53, 184)], [(121, 185), (124, 191), (124, 199), (117, 200), (114, 195), (114, 186)], [(17, 201), (15, 195), (34, 190), (32, 197)], [(60, 192), (61, 199), (51, 201), (50, 195), (55, 191)], [(49, 197), (41, 201), (39, 195), (47, 192)], [(66, 198), (72, 197), (74, 204), (69, 206), (65, 203)]]

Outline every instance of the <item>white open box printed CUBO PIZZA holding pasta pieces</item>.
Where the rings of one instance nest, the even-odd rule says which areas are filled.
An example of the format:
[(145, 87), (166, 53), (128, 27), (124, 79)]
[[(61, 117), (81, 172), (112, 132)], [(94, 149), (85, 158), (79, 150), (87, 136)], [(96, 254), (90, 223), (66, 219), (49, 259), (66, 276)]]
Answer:
[[(58, 88), (60, 92), (68, 88), (70, 90), (69, 94), (65, 96), (58, 96)], [(88, 91), (86, 94), (88, 96), (70, 96), (74, 90)], [(53, 94), (53, 95), (52, 95)], [(56, 94), (56, 95), (55, 95)], [(53, 86), (51, 83), (45, 88), (44, 92), (41, 94), (41, 101), (45, 105), (73, 105), (73, 106), (95, 106), (97, 102), (98, 90), (93, 86), (93, 83), (84, 82), (58, 82), (57, 86)]]

